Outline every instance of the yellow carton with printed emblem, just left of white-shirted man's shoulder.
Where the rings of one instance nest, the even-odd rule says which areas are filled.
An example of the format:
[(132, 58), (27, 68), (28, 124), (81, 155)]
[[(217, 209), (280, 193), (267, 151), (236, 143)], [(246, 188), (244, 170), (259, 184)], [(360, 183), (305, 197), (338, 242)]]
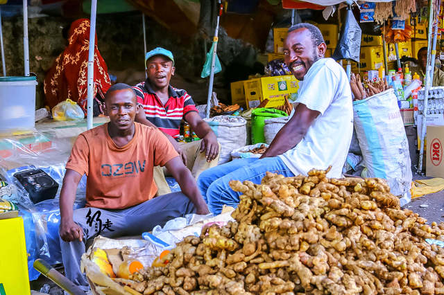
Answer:
[(255, 78), (244, 82), (246, 105), (257, 107), (264, 99), (268, 99), (266, 107), (284, 105), (284, 96), (298, 92), (299, 82), (293, 75)]

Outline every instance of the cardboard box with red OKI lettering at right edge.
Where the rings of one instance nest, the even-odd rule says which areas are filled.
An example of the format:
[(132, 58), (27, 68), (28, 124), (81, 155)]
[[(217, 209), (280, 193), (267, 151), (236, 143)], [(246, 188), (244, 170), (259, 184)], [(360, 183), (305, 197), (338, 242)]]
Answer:
[(444, 126), (427, 126), (427, 161), (425, 175), (444, 177)]

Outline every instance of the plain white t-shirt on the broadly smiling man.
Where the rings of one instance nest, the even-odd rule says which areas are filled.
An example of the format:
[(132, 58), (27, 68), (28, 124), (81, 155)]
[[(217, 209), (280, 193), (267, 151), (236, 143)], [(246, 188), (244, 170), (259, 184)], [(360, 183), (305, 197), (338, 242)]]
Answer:
[[(302, 84), (302, 86), (301, 86)], [(352, 92), (347, 75), (332, 58), (311, 65), (299, 84), (298, 99), (321, 114), (293, 149), (279, 155), (295, 175), (332, 166), (328, 177), (341, 177), (353, 133)], [(293, 116), (294, 109), (290, 114)]]

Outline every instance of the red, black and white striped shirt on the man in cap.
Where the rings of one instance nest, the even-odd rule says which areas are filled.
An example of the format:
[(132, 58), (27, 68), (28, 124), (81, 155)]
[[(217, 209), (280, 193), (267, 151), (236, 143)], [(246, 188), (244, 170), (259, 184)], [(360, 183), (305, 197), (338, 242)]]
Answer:
[(165, 105), (162, 105), (148, 79), (133, 89), (136, 91), (137, 103), (144, 107), (146, 119), (174, 138), (179, 136), (182, 118), (190, 111), (197, 111), (191, 96), (183, 89), (169, 85), (169, 99)]

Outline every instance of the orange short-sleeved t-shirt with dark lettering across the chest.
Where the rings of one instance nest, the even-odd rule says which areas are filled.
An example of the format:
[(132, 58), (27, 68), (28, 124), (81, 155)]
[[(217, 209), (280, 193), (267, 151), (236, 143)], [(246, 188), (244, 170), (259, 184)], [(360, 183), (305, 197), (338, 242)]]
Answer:
[(117, 147), (108, 124), (80, 134), (67, 162), (67, 169), (87, 175), (86, 206), (123, 209), (153, 198), (153, 167), (164, 166), (178, 153), (162, 132), (139, 123), (133, 139)]

